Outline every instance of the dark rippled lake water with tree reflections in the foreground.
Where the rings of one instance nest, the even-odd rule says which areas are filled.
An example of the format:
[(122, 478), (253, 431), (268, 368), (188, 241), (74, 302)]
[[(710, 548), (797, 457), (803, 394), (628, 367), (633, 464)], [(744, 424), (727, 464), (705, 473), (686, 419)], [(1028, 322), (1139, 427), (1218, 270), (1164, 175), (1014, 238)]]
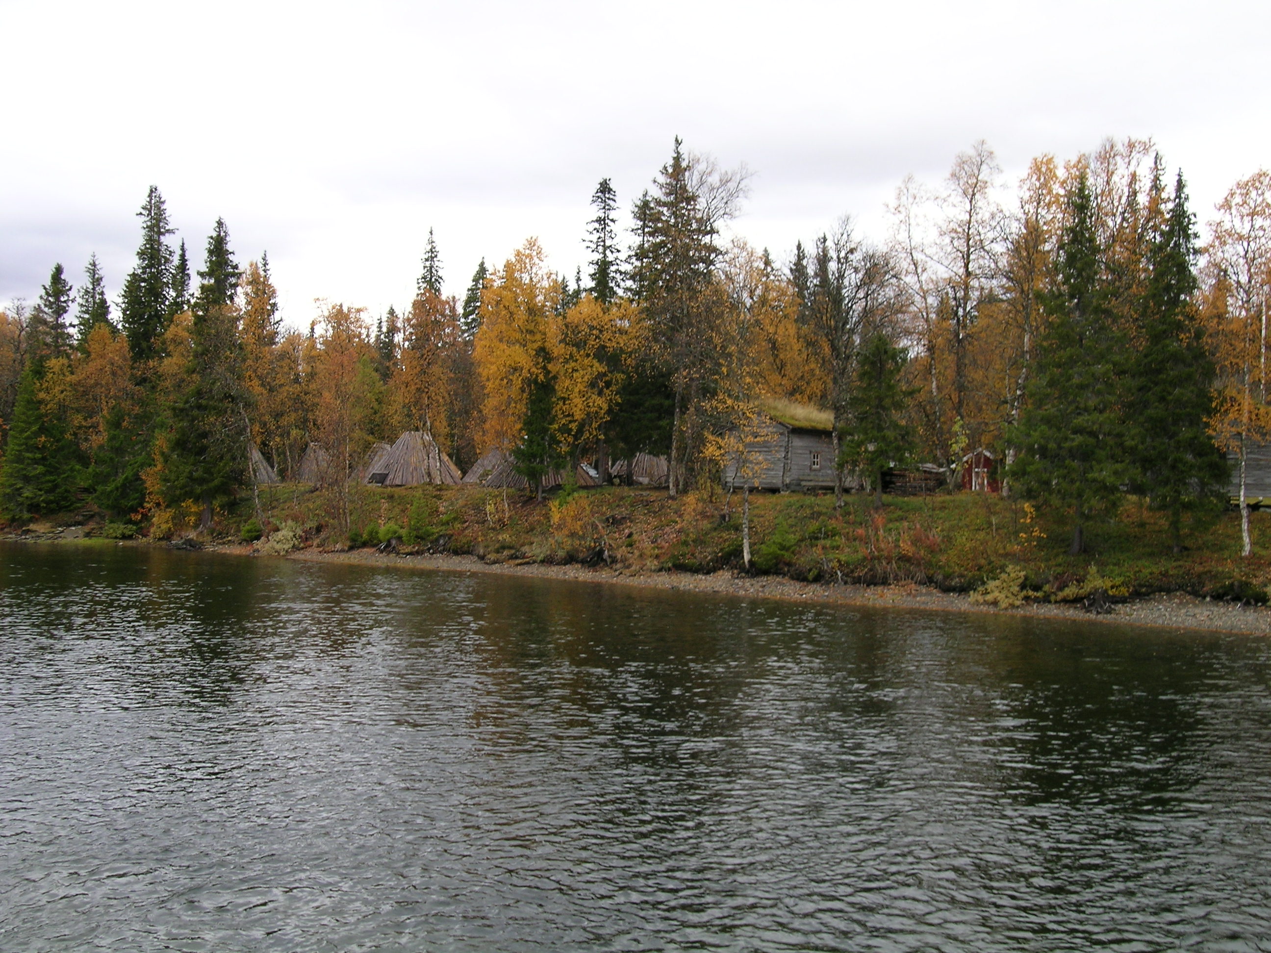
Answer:
[(0, 545), (0, 949), (1271, 949), (1268, 676), (1243, 635)]

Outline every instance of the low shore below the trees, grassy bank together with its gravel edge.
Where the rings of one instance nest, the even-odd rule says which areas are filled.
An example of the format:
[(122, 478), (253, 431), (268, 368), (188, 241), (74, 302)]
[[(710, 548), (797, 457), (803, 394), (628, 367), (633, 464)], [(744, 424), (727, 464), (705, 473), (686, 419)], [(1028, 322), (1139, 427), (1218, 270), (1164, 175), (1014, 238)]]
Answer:
[[(217, 512), (215, 530), (170, 540), (119, 539), (102, 513), (80, 512), (10, 530), (6, 540), (93, 540), (238, 555), (604, 582), (841, 606), (990, 612), (1172, 629), (1271, 634), (1265, 581), (1271, 548), (1233, 557), (1239, 515), (1216, 516), (1171, 546), (1167, 518), (1127, 504), (1070, 557), (1032, 507), (984, 493), (886, 497), (750, 497), (754, 554), (741, 560), (737, 494), (716, 488), (670, 499), (647, 488), (527, 493), (473, 487), (360, 487), (348, 494), (353, 535), (330, 526), (333, 492), (262, 488), (261, 537), (252, 503)], [(1257, 526), (1271, 520), (1253, 513)], [(60, 525), (58, 525), (60, 524)], [(1261, 526), (1258, 529), (1262, 529)], [(1256, 534), (1261, 536), (1262, 534)]]

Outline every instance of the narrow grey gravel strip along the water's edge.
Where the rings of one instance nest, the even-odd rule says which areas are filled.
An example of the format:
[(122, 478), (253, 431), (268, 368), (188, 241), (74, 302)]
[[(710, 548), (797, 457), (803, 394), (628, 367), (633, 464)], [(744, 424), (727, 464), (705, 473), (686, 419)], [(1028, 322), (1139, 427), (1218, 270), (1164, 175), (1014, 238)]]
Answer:
[[(248, 554), (247, 548), (222, 551)], [(925, 611), (977, 612), (982, 615), (1016, 615), (1041, 619), (1079, 619), (1087, 623), (1149, 625), (1176, 630), (1205, 630), (1271, 635), (1271, 609), (1215, 602), (1186, 593), (1162, 593), (1122, 602), (1106, 615), (1093, 615), (1075, 605), (1028, 604), (1018, 609), (996, 609), (971, 602), (970, 597), (942, 592), (929, 586), (852, 586), (797, 582), (778, 576), (738, 576), (723, 571), (707, 574), (686, 572), (632, 572), (582, 565), (547, 565), (543, 563), (484, 563), (470, 555), (394, 555), (374, 550), (323, 553), (302, 549), (290, 559), (308, 563), (342, 563), (348, 565), (391, 567), (398, 569), (437, 569), (460, 573), (497, 573), (533, 576), (576, 582), (639, 586), (643, 588), (712, 592), (747, 598), (779, 598), (794, 602), (819, 602), (844, 606), (920, 609)]]

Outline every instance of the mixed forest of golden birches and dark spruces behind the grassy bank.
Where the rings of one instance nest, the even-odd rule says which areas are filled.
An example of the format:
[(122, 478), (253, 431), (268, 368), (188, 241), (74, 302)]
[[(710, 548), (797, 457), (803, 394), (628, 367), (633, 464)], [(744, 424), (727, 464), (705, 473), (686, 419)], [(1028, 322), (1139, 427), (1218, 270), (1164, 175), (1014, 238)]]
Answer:
[(676, 140), (627, 226), (610, 180), (595, 187), (586, 273), (554, 272), (531, 238), (446, 296), (430, 231), (400, 310), (320, 302), (290, 328), (267, 255), (241, 260), (217, 220), (198, 268), (151, 187), (117, 300), (93, 257), (78, 285), (56, 263), (37, 301), (0, 311), (0, 515), (92, 506), (154, 537), (207, 532), (253, 496), (252, 447), (290, 479), (318, 443), (347, 537), (350, 476), (404, 431), (460, 470), (503, 450), (531, 487), (665, 456), (675, 498), (746, 473), (782, 400), (829, 412), (839, 504), (919, 463), (960, 487), (985, 447), (1071, 554), (1130, 498), (1177, 551), (1228, 504), (1234, 466), (1251, 551), (1271, 173), (1201, 226), (1150, 141), (1042, 155), (1013, 186), (977, 142), (937, 186), (900, 183), (885, 239), (841, 219), (775, 254), (732, 236), (747, 189)]

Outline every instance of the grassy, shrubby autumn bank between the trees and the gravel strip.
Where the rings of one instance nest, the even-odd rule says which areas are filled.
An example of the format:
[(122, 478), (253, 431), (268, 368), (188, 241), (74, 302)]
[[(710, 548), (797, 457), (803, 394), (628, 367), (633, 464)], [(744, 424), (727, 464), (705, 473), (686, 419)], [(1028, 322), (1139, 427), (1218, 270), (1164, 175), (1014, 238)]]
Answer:
[[(329, 490), (262, 490), (263, 545), (324, 549), (393, 541), (402, 551), (468, 553), (487, 562), (608, 564), (633, 572), (741, 571), (741, 498), (714, 489), (670, 499), (665, 490), (606, 487), (558, 493), (543, 502), (524, 493), (469, 487), (358, 487), (348, 499), (351, 532)], [(250, 499), (222, 513), (217, 531), (239, 539), (253, 518)], [(1216, 515), (1192, 527), (1173, 554), (1163, 520), (1131, 502), (1115, 521), (1091, 527), (1089, 549), (1069, 557), (1060, 520), (1017, 501), (958, 493), (887, 498), (754, 494), (752, 565), (758, 574), (808, 582), (913, 581), (965, 592), (993, 591), (1074, 601), (1101, 591), (1117, 596), (1188, 592), (1265, 601), (1271, 582), (1271, 515), (1253, 515), (1254, 553), (1242, 559), (1239, 516)], [(253, 529), (253, 527), (249, 527)], [(272, 535), (271, 535), (272, 534)], [(249, 535), (253, 535), (249, 532)]]

